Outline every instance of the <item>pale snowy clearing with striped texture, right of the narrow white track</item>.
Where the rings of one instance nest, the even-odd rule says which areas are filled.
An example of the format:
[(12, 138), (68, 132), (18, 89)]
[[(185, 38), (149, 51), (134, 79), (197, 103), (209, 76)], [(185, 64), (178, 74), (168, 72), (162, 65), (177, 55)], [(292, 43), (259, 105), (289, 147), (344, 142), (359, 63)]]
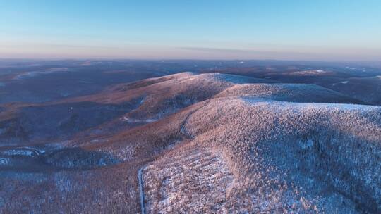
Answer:
[(143, 172), (147, 213), (227, 211), (226, 190), (233, 177), (219, 154), (185, 151), (157, 160)]

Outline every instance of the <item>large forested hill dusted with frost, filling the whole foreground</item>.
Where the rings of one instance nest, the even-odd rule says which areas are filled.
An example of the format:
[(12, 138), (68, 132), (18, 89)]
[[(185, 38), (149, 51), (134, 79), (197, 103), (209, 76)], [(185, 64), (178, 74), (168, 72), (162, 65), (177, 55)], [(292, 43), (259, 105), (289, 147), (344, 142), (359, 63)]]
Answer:
[[(57, 126), (62, 118), (32, 124), (28, 142), (13, 135), (0, 148), (1, 213), (381, 210), (381, 108), (344, 94), (179, 73), (32, 108), (48, 117), (47, 106), (78, 103), (108, 116), (75, 132)], [(10, 141), (4, 133), (19, 127), (8, 121), (31, 117), (31, 107), (1, 107)], [(78, 111), (73, 124), (95, 112)], [(66, 138), (40, 141), (44, 129)]]

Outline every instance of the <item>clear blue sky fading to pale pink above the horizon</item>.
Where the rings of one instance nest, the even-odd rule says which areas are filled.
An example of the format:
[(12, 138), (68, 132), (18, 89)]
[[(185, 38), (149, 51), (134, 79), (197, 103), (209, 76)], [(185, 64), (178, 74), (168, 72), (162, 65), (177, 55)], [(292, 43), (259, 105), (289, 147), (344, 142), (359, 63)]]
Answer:
[(0, 0), (0, 58), (381, 61), (381, 1)]

